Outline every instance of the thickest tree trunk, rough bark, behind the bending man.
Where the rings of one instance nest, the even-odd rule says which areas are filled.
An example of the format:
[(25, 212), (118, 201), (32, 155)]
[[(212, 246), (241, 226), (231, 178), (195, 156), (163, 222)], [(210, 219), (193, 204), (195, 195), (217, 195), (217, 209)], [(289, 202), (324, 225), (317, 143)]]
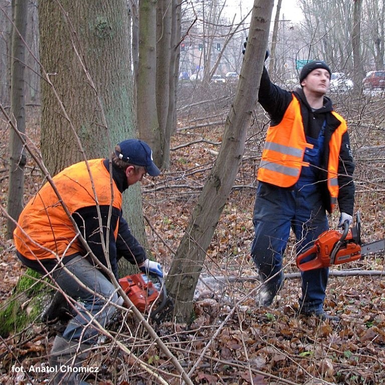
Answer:
[[(41, 149), (57, 173), (84, 157), (109, 157), (135, 136), (129, 10), (124, 0), (45, 1), (39, 20), (41, 62), (68, 115), (44, 81)], [(140, 186), (124, 195), (125, 217), (146, 245)]]

